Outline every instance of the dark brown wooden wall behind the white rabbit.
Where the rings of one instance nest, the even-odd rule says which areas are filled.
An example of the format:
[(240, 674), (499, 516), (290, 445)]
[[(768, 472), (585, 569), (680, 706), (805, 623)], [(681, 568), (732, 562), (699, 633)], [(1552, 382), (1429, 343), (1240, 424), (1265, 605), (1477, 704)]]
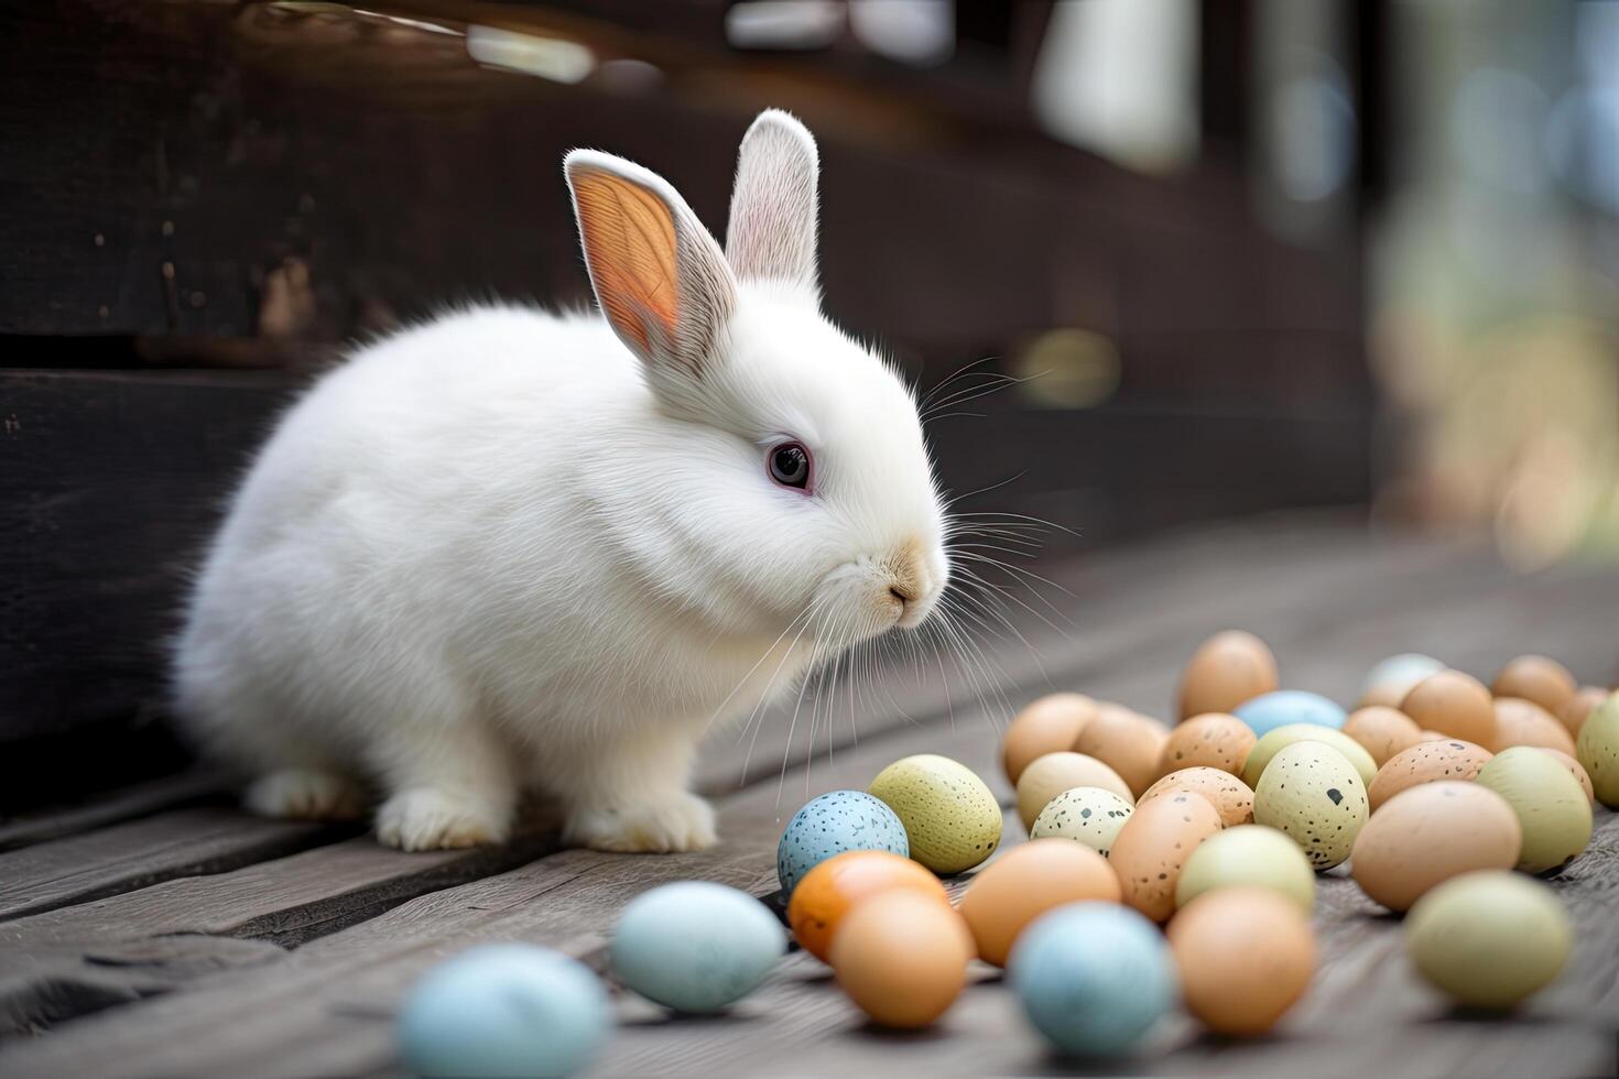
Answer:
[[(852, 47), (740, 53), (725, 8), (368, 5), (659, 71), (563, 86), (340, 5), (5, 5), (0, 812), (183, 759), (162, 650), (186, 568), (345, 341), (457, 301), (588, 299), (573, 146), (659, 170), (720, 230), (748, 120), (792, 108), (822, 149), (827, 311), (921, 385), (981, 358), (1004, 370), (1052, 328), (1109, 340), (1106, 403), (999, 393), (933, 432), (949, 487), (997, 485), (971, 505), (1073, 529), (1057, 548), (1366, 500), (1358, 230), (1298, 244), (1255, 220), (1251, 3), (1203, 6), (1203, 150), (1172, 176), (1041, 133), (1046, 5), (958, 3), (957, 55), (928, 71)], [(1379, 10), (1345, 21), (1363, 126)]]

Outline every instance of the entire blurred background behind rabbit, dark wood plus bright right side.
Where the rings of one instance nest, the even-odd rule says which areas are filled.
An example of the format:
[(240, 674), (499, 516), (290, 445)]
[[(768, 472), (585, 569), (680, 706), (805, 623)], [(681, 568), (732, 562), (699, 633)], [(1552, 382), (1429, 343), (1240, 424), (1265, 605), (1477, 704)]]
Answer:
[(6, 785), (160, 712), (219, 498), (345, 343), (586, 303), (575, 146), (722, 228), (767, 105), (821, 142), (827, 311), (1051, 555), (1308, 506), (1619, 553), (1619, 3), (42, 0), (0, 40)]

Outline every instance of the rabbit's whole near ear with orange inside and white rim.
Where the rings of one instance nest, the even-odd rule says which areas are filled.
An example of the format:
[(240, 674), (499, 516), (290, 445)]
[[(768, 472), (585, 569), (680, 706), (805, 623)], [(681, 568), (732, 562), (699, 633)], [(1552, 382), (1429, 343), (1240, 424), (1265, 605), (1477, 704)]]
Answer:
[(622, 157), (563, 160), (596, 301), (654, 374), (703, 375), (735, 306), (719, 244), (661, 176)]

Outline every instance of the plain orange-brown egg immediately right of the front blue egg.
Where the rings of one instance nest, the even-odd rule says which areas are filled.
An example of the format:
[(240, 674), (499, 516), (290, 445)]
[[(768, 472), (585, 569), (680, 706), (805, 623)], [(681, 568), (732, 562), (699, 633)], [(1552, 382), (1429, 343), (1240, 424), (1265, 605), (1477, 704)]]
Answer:
[(1216, 1034), (1269, 1030), (1315, 977), (1310, 919), (1269, 888), (1200, 895), (1169, 924), (1169, 946), (1187, 1011)]

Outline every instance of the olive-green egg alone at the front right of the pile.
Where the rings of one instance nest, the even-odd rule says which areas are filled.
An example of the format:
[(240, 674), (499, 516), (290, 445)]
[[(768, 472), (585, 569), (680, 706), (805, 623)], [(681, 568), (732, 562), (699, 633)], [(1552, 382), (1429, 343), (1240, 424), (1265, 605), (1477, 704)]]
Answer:
[(1447, 880), (1405, 916), (1412, 966), (1470, 1008), (1512, 1008), (1556, 979), (1572, 948), (1556, 893), (1499, 869)]

